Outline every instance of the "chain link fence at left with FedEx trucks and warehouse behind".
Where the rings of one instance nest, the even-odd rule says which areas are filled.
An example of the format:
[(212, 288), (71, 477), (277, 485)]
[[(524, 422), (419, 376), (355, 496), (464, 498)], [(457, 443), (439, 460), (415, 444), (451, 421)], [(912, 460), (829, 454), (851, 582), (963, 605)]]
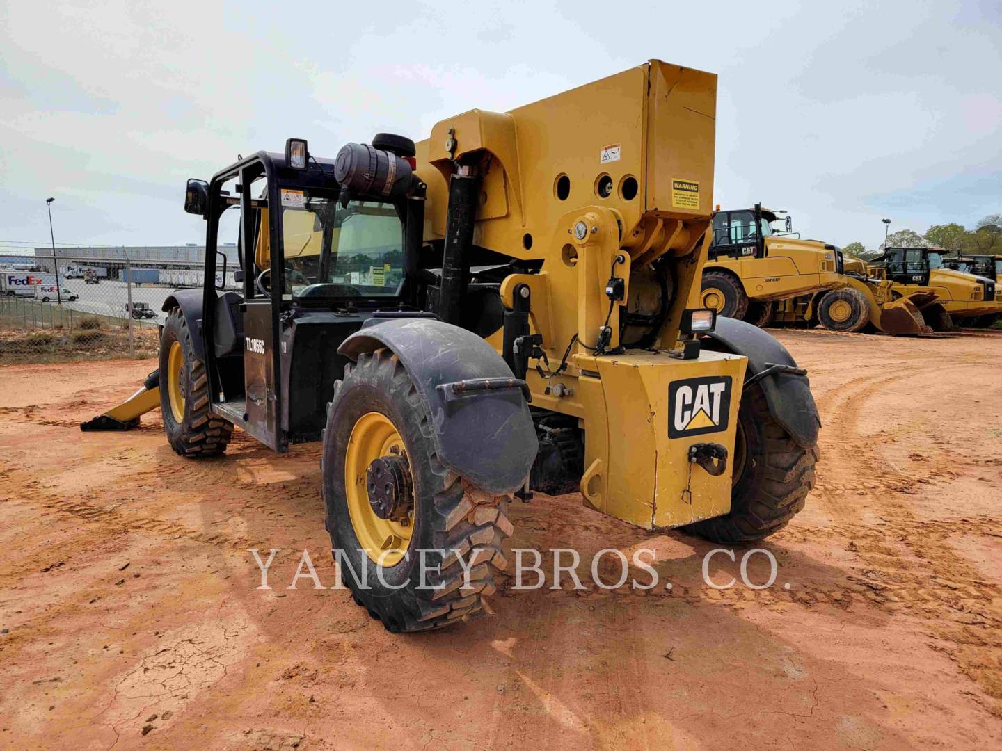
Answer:
[(202, 278), (201, 264), (185, 261), (25, 256), (0, 267), (0, 359), (152, 356), (163, 301)]

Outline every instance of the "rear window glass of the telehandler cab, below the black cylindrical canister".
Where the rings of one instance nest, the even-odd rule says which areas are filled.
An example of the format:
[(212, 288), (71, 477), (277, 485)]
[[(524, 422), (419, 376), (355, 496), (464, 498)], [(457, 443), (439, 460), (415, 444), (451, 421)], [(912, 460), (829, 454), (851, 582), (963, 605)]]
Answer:
[(286, 292), (391, 297), (404, 280), (403, 228), (392, 203), (282, 191)]

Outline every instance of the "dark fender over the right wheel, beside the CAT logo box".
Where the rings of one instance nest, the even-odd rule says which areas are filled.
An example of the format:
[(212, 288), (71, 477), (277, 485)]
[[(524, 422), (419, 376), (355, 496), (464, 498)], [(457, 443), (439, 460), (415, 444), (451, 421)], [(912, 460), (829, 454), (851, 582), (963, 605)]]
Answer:
[[(712, 344), (707, 345), (706, 339)], [(707, 349), (722, 349), (748, 358), (745, 381), (765, 372), (773, 365), (797, 367), (797, 362), (771, 333), (736, 318), (717, 318), (716, 329), (702, 339)], [(715, 345), (714, 345), (715, 344)], [(818, 445), (821, 417), (811, 394), (811, 382), (805, 374), (774, 369), (759, 383), (766, 395), (769, 412), (803, 448)]]

